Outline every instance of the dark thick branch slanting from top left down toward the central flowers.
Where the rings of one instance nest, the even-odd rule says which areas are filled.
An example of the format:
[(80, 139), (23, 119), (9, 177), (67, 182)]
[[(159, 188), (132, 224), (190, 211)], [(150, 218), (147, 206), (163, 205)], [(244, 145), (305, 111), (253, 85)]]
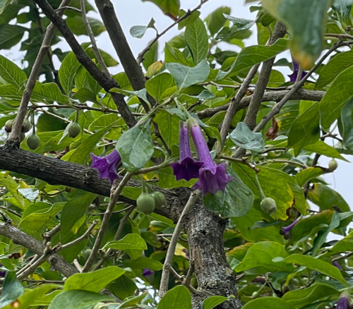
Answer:
[[(52, 23), (56, 25), (56, 28), (58, 28), (58, 30), (64, 36), (66, 42), (68, 42), (73, 53), (76, 55), (78, 62), (80, 62), (85, 67), (85, 69), (90, 73), (90, 75), (92, 75), (93, 78), (95, 78), (95, 80), (97, 80), (97, 82), (104, 88), (104, 90), (109, 92), (109, 90), (113, 87), (119, 87), (119, 84), (116, 83), (116, 80), (100, 71), (100, 69), (85, 53), (71, 30), (66, 25), (65, 20), (54, 11), (52, 6), (50, 6), (46, 0), (35, 0), (35, 3), (37, 3), (38, 6), (42, 8), (42, 11), (47, 16), (47, 18), (52, 20)], [(130, 109), (128, 109), (128, 106), (124, 101), (124, 96), (118, 93), (112, 93), (112, 98), (114, 99), (116, 107), (119, 110), (121, 116), (124, 118), (126, 124), (129, 127), (134, 126), (136, 124), (136, 120), (131, 114)]]

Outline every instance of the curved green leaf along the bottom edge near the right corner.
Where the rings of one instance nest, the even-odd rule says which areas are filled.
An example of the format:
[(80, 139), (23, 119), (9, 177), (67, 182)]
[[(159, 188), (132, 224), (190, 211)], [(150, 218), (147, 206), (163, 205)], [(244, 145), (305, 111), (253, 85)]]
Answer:
[(306, 289), (289, 291), (282, 296), (282, 299), (294, 308), (304, 308), (306, 305), (333, 295), (340, 295), (340, 291), (328, 284), (314, 284)]

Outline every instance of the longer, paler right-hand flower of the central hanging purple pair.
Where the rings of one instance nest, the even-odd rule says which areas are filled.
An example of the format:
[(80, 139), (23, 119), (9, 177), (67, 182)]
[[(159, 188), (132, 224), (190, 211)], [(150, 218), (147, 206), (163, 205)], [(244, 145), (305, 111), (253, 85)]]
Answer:
[(193, 189), (201, 190), (203, 195), (208, 192), (215, 194), (217, 190), (222, 190), (225, 192), (225, 186), (227, 186), (229, 181), (233, 180), (231, 176), (226, 174), (225, 163), (217, 165), (213, 161), (201, 128), (198, 126), (196, 119), (189, 119), (188, 123), (191, 127), (193, 143), (195, 144), (196, 151), (198, 152), (198, 159), (203, 162), (203, 166), (198, 171), (198, 182), (193, 185)]

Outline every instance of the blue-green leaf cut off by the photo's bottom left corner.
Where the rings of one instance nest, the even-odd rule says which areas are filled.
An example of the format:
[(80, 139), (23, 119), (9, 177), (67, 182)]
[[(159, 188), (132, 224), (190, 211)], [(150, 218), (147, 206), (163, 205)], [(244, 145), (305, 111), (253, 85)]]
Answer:
[(16, 301), (24, 291), (22, 284), (16, 277), (16, 272), (7, 271), (2, 285), (0, 308), (4, 308), (6, 305)]

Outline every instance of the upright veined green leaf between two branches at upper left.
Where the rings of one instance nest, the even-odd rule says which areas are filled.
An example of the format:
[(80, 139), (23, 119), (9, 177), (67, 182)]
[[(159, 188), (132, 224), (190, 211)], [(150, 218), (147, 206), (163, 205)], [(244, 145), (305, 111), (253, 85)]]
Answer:
[(61, 62), (58, 72), (61, 87), (63, 87), (64, 92), (68, 97), (74, 87), (75, 75), (78, 68), (80, 68), (80, 63), (76, 59), (75, 54), (73, 54), (73, 52), (69, 52)]

